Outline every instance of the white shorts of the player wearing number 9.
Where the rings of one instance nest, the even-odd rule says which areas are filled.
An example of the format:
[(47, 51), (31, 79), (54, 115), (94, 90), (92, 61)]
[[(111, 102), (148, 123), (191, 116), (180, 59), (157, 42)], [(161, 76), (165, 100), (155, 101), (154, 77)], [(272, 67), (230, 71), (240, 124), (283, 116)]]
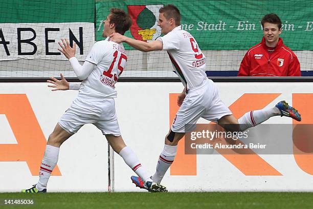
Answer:
[(171, 129), (176, 133), (191, 132), (201, 117), (217, 123), (226, 115), (232, 115), (232, 112), (219, 98), (214, 82), (208, 79), (202, 85), (188, 90)]

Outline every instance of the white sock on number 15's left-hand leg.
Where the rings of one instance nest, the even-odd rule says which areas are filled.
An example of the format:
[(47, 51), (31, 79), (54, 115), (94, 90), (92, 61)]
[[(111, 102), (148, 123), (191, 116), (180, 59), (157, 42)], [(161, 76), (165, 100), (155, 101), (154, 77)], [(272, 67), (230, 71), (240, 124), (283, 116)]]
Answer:
[(46, 151), (44, 151), (44, 156), (40, 165), (39, 181), (36, 184), (37, 190), (41, 191), (47, 188), (51, 172), (58, 162), (59, 150), (59, 147), (46, 145)]

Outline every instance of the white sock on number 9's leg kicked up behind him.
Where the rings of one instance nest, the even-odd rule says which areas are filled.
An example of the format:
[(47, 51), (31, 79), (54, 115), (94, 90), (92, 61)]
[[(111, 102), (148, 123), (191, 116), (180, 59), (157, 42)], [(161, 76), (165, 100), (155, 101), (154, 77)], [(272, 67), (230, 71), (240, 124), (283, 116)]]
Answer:
[(271, 109), (255, 110), (245, 113), (241, 118), (238, 119), (238, 123), (241, 131), (243, 131), (277, 115), (280, 115), (280, 110), (276, 107)]

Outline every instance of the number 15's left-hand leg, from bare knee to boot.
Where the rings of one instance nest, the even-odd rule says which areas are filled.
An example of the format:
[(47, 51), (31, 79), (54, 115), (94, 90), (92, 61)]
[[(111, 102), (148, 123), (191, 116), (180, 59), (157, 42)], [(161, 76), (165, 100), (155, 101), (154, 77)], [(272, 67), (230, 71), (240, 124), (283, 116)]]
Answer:
[(57, 124), (49, 136), (46, 150), (41, 161), (39, 171), (39, 181), (32, 188), (22, 190), (24, 193), (47, 192), (48, 180), (56, 166), (59, 158), (59, 149), (61, 144), (72, 135), (66, 132), (59, 124)]

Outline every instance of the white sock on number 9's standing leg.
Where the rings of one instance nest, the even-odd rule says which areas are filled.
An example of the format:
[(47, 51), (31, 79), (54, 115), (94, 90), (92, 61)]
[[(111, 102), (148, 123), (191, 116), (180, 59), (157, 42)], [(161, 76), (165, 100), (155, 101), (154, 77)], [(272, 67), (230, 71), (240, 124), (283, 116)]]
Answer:
[(177, 145), (176, 146), (169, 146), (164, 145), (164, 148), (160, 154), (158, 163), (157, 163), (157, 170), (152, 176), (152, 180), (157, 183), (161, 183), (166, 171), (172, 165), (174, 158), (177, 153)]

